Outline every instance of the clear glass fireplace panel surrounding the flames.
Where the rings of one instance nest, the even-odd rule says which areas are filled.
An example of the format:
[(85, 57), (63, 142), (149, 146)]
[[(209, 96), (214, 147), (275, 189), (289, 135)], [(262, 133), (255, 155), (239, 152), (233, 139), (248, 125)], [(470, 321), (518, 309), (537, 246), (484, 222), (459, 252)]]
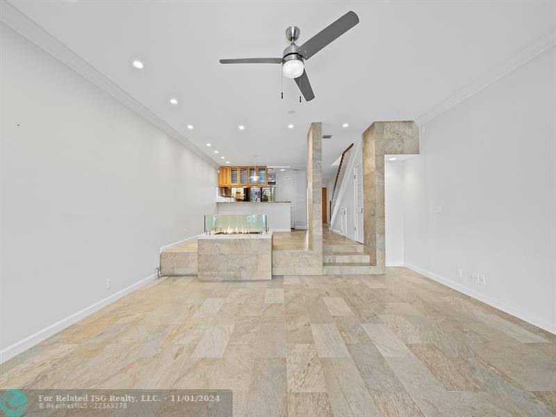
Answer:
[(265, 214), (207, 214), (205, 234), (263, 234), (268, 231)]

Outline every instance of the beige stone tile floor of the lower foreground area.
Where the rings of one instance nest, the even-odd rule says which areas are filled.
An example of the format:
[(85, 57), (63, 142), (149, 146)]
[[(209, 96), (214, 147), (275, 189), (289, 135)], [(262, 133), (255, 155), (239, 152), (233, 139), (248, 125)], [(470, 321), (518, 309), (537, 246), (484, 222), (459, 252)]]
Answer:
[(232, 389), (234, 415), (553, 416), (556, 336), (404, 268), (159, 279), (0, 368), (1, 388)]

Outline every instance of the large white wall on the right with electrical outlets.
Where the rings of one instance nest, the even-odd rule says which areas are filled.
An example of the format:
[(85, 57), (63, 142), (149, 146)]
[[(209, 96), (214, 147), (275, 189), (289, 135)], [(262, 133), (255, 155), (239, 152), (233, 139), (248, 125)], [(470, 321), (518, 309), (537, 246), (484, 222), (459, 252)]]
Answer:
[(555, 74), (553, 47), (425, 124), (404, 163), (405, 262), (552, 332)]

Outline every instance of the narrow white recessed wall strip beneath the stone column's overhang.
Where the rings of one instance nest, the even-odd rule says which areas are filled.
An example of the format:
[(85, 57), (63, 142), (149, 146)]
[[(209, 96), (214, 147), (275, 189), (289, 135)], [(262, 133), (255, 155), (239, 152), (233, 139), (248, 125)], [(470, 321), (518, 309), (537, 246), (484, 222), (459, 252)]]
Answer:
[(404, 161), (384, 162), (386, 266), (404, 263)]

